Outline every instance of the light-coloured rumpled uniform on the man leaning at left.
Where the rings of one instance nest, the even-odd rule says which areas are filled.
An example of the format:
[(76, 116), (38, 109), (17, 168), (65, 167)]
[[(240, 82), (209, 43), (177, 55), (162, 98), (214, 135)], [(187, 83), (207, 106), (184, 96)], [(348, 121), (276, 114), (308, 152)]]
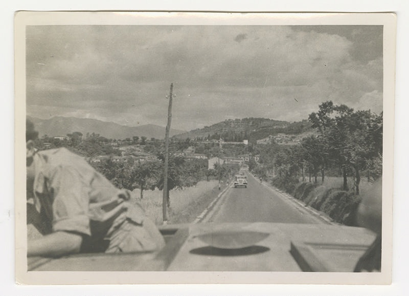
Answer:
[(37, 155), (27, 223), (42, 235), (79, 234), (81, 252), (150, 251), (164, 246), (142, 207), (129, 201), (129, 192), (113, 186), (82, 157), (65, 148)]

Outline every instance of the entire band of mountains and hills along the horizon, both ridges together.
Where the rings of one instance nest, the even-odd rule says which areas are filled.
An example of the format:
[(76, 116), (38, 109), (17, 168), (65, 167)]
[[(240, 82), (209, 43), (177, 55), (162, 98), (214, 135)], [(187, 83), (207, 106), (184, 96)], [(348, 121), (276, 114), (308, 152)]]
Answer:
[[(74, 132), (80, 132), (84, 136), (89, 133), (99, 134), (108, 139), (126, 139), (133, 136), (164, 139), (165, 128), (154, 124), (141, 126), (125, 126), (113, 122), (97, 119), (75, 118), (75, 117), (52, 117), (50, 119), (39, 119), (27, 116), (33, 121), (39, 137), (66, 136)], [(192, 131), (170, 130), (170, 136), (177, 139), (219, 139), (225, 141), (238, 141), (246, 139), (256, 142), (277, 134), (300, 135), (312, 131), (308, 120), (299, 122), (279, 121), (268, 118), (243, 118), (228, 119), (202, 129)]]

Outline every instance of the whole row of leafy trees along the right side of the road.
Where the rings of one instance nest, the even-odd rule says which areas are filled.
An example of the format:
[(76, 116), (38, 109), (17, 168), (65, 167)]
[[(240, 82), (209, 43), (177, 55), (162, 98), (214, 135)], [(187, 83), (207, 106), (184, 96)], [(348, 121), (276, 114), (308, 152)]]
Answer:
[(315, 133), (298, 145), (258, 145), (261, 165), (254, 165), (253, 171), (277, 176), (277, 183), (291, 188), (299, 179), (306, 181), (307, 175), (310, 182), (317, 183), (319, 177), (324, 182), (330, 174), (342, 176), (343, 189), (348, 190), (347, 177), (352, 176), (356, 195), (362, 172), (368, 180), (381, 176), (382, 113), (354, 111), (347, 105), (326, 101), (308, 120)]

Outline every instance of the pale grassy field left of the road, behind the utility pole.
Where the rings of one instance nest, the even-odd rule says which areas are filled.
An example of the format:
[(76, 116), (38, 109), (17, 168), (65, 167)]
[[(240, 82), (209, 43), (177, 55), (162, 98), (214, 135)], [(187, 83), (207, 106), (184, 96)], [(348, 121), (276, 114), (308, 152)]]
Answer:
[[(169, 224), (192, 223), (218, 194), (218, 181), (216, 180), (200, 181), (195, 187), (173, 189), (170, 192)], [(146, 215), (156, 225), (161, 225), (163, 220), (162, 191), (158, 189), (144, 191), (142, 200), (139, 199), (139, 196), (140, 190), (135, 189), (132, 192), (132, 198), (142, 204)]]

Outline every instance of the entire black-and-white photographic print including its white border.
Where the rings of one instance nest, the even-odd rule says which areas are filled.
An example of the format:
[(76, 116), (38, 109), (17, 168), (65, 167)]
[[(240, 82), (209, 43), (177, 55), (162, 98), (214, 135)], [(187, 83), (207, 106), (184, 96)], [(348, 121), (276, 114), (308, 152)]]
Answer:
[(393, 14), (15, 22), (22, 283), (391, 283)]

